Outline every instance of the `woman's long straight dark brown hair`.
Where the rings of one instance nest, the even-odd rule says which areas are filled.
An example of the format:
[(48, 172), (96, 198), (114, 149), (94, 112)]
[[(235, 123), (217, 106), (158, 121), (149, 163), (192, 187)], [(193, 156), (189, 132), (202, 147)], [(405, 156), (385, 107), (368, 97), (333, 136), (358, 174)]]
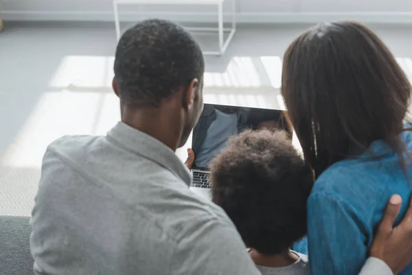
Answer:
[[(316, 177), (368, 151), (374, 140), (398, 153), (411, 84), (382, 41), (360, 23), (321, 23), (286, 50), (282, 94)], [(379, 156), (373, 156), (379, 157)]]

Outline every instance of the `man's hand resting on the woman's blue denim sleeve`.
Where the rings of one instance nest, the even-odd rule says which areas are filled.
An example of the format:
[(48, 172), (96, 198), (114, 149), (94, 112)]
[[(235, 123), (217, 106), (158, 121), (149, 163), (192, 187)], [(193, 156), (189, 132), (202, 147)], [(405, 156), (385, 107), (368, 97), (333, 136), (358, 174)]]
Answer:
[(392, 195), (369, 250), (369, 255), (385, 261), (393, 274), (404, 270), (412, 261), (412, 199), (402, 222), (393, 228), (401, 206), (402, 198)]

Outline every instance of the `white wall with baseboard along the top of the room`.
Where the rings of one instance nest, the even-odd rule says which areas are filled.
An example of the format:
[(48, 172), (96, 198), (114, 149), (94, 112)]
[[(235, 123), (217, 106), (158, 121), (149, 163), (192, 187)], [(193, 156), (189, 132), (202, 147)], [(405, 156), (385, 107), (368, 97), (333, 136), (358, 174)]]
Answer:
[[(1, 1), (1, 0), (0, 0)], [(231, 0), (225, 0), (230, 10)], [(412, 23), (411, 0), (237, 0), (239, 21), (290, 22), (334, 19), (393, 21)], [(7, 20), (113, 20), (111, 0), (3, 0)], [(214, 21), (209, 7), (145, 6), (121, 9), (122, 19), (135, 21), (139, 12), (180, 19), (181, 21)], [(190, 14), (182, 15), (183, 12)]]

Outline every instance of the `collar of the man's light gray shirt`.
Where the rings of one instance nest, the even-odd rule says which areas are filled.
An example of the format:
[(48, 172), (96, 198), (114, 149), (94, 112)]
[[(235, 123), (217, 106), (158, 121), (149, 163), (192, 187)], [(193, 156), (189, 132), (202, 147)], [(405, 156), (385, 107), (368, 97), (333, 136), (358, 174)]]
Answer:
[(115, 140), (124, 149), (142, 155), (170, 170), (176, 177), (180, 177), (187, 186), (190, 186), (192, 174), (189, 169), (181, 162), (181, 159), (176, 156), (172, 149), (165, 146), (159, 140), (128, 126), (124, 122), (117, 123), (107, 133), (107, 136)]

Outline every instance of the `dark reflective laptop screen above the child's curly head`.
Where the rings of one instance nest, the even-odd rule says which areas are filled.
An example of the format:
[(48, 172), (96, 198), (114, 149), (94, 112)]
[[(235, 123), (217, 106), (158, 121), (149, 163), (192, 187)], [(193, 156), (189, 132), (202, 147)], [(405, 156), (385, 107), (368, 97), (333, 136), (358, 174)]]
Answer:
[(229, 137), (245, 129), (282, 129), (289, 133), (290, 139), (293, 134), (286, 111), (205, 104), (193, 129), (192, 149), (196, 159), (192, 168), (207, 170)]

